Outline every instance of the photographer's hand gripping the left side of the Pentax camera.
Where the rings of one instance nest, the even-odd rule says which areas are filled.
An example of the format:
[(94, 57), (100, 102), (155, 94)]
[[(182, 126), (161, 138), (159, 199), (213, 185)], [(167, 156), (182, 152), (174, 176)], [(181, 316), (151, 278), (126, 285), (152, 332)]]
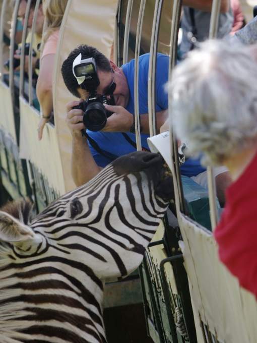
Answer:
[(73, 108), (74, 106), (78, 106), (82, 101), (83, 99), (80, 99), (80, 101), (70, 101), (66, 105), (66, 123), (73, 137), (82, 137), (81, 130), (85, 129), (85, 125), (83, 124), (83, 110)]

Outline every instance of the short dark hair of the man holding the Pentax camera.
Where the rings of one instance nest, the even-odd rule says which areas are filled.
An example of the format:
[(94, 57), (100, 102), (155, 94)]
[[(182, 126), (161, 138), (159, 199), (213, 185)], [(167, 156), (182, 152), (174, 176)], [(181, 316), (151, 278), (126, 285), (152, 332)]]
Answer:
[(79, 45), (76, 49), (72, 50), (68, 58), (62, 63), (61, 74), (66, 87), (73, 95), (77, 96), (78, 98), (80, 97), (80, 94), (77, 90), (79, 88), (79, 84), (75, 76), (73, 75), (72, 66), (73, 61), (80, 53), (82, 55), (82, 60), (94, 58), (97, 69), (103, 72), (111, 71), (110, 61), (96, 48), (89, 45)]

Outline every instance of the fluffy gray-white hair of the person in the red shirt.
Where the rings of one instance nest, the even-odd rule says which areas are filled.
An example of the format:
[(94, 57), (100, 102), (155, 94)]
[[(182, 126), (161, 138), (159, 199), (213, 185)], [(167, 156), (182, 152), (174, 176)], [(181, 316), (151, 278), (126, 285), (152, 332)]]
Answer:
[(243, 45), (210, 40), (168, 85), (176, 135), (204, 164), (222, 164), (257, 140), (257, 63)]

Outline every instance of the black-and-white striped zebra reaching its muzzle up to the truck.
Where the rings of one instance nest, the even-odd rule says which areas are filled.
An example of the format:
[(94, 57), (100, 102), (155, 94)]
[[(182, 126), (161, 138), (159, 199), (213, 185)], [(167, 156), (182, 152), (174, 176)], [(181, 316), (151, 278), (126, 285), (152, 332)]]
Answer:
[(173, 197), (163, 163), (119, 157), (29, 223), (0, 211), (1, 343), (106, 342), (104, 282), (143, 259)]

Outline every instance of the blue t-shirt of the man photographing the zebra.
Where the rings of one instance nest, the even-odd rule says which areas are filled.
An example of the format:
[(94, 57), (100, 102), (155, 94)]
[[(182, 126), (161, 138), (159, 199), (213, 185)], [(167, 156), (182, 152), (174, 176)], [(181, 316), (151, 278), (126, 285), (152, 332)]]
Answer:
[[(127, 84), (130, 90), (130, 98), (127, 103), (126, 110), (135, 114), (134, 108), (134, 69), (135, 69), (135, 60), (130, 61), (122, 66), (122, 71), (126, 77)], [(148, 69), (149, 69), (149, 53), (141, 55), (139, 58), (139, 114), (143, 115), (148, 113)], [(168, 108), (168, 94), (165, 91), (165, 85), (168, 82), (168, 70), (169, 70), (169, 56), (162, 53), (157, 54), (156, 59), (156, 111), (161, 111)], [(108, 158), (96, 151), (91, 144), (89, 144), (90, 151), (96, 164), (105, 167), (116, 157), (131, 153), (136, 151), (135, 147), (129, 143), (125, 137), (120, 132), (102, 132), (97, 131), (93, 132), (87, 130), (87, 134), (97, 143), (99, 148), (103, 153), (107, 152), (107, 155), (110, 154)], [(126, 135), (135, 142), (136, 144), (136, 135), (130, 132), (126, 132)], [(141, 144), (142, 147), (149, 149), (147, 144), (148, 134), (141, 134)], [(195, 176), (203, 172), (203, 168), (199, 161), (191, 160), (192, 163), (192, 173), (190, 173), (190, 160), (187, 159), (183, 164), (183, 175), (186, 176)], [(182, 169), (181, 169), (182, 170)]]

